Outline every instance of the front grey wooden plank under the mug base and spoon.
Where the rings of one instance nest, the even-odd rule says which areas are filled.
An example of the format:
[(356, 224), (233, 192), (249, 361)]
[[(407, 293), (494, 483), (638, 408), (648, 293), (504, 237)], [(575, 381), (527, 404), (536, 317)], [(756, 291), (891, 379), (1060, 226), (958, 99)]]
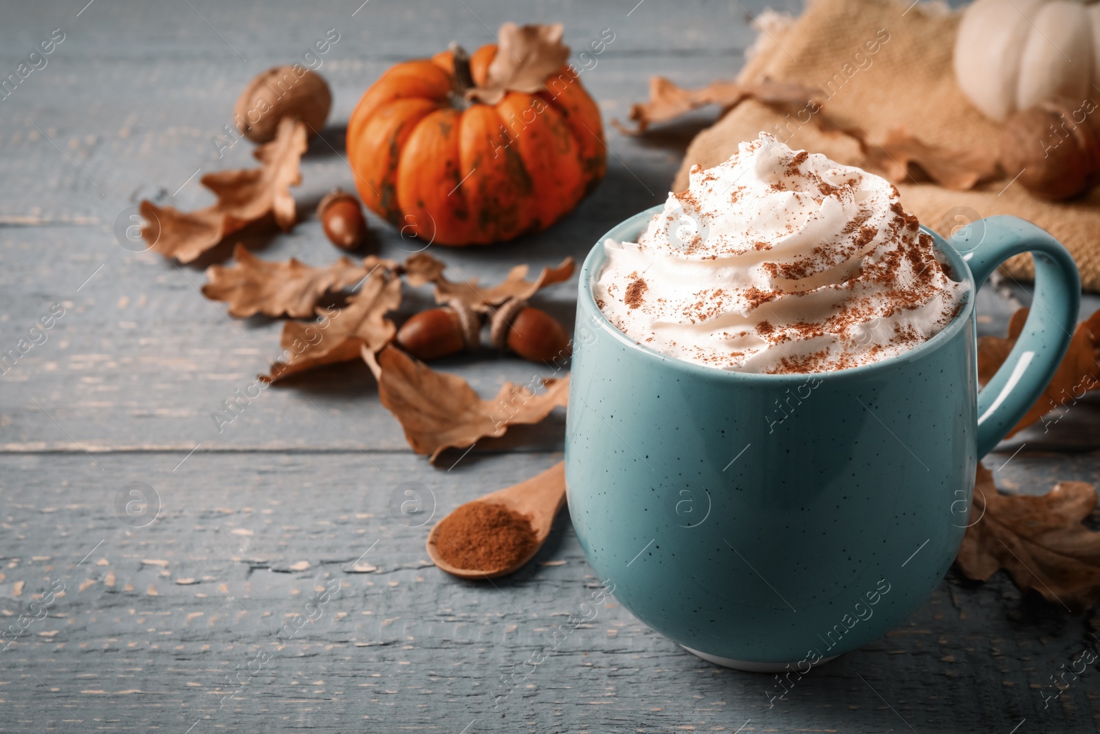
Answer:
[[(490, 585), (431, 568), (430, 524), (405, 527), (389, 501), (402, 483), (419, 482), (438, 517), (560, 454), (468, 458), (450, 472), (372, 454), (376, 471), (353, 451), (196, 454), (177, 467), (183, 457), (100, 454), (102, 471), (84, 456), (0, 459), (0, 615), (11, 624), (34, 594), (65, 583), (48, 617), (0, 653), (0, 731), (80, 719), (120, 732), (185, 732), (196, 721), (195, 731), (263, 722), (459, 732), (472, 720), (469, 731), (531, 722), (733, 732), (751, 719), (743, 731), (897, 732), (904, 719), (919, 732), (1009, 732), (1022, 719), (1028, 731), (1091, 731), (1100, 716), (1089, 673), (1043, 705), (1043, 693), (1054, 694), (1041, 688), (1049, 676), (1096, 645), (1086, 621), (1022, 598), (1003, 576), (976, 584), (953, 573), (906, 624), (815, 669), (773, 706), (771, 676), (705, 664), (614, 601), (524, 678), (522, 662), (552, 647), (547, 639), (598, 585), (568, 514), (531, 565)], [(1079, 457), (1057, 476), (1094, 482), (1098, 469)], [(1016, 458), (999, 476), (1049, 473)], [(131, 481), (161, 497), (145, 527), (116, 516), (116, 492)], [(365, 572), (352, 572), (356, 561)], [(331, 580), (340, 592), (276, 650), (282, 624), (306, 614)], [(262, 649), (272, 658), (253, 665), (256, 675), (226, 683)], [(519, 686), (499, 688), (514, 670)]]

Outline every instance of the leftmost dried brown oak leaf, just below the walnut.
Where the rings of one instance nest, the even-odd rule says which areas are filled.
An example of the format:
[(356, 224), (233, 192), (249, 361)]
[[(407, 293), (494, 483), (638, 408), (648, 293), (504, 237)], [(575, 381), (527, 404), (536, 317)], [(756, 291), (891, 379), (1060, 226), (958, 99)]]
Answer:
[(258, 146), (253, 155), (258, 168), (219, 171), (202, 176), (202, 185), (218, 201), (196, 211), (161, 208), (141, 202), (145, 219), (142, 237), (150, 249), (165, 258), (189, 263), (221, 242), (227, 234), (274, 212), (275, 223), (288, 230), (295, 222), (290, 186), (301, 183), (298, 163), (306, 152), (306, 125), (290, 118), (279, 121), (275, 140)]

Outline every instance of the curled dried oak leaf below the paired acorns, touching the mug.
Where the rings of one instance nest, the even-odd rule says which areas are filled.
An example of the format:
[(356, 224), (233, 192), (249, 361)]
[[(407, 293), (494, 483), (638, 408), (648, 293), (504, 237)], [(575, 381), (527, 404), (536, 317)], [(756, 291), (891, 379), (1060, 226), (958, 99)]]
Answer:
[(402, 424), (405, 438), (417, 453), (436, 458), (447, 448), (464, 449), (484, 437), (504, 436), (508, 426), (535, 424), (569, 398), (569, 377), (543, 380), (546, 392), (504, 383), (491, 401), (483, 401), (462, 377), (436, 372), (396, 347), (377, 358), (367, 350), (363, 359), (378, 380), (382, 404)]

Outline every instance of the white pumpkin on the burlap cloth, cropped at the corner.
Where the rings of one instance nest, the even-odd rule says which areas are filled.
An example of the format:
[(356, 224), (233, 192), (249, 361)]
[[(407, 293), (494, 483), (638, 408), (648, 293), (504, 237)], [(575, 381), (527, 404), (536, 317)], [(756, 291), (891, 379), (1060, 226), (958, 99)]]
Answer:
[(955, 41), (955, 78), (999, 121), (1053, 95), (1084, 100), (1100, 84), (1100, 4), (975, 0)]

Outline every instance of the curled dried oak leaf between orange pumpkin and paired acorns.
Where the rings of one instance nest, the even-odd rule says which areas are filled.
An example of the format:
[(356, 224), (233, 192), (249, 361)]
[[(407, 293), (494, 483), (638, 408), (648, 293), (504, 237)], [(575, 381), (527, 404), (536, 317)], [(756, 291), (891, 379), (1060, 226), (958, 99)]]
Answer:
[(485, 313), (509, 298), (527, 299), (539, 288), (568, 281), (573, 274), (574, 263), (572, 258), (565, 258), (557, 267), (543, 267), (534, 281), (524, 280), (530, 270), (528, 265), (516, 265), (502, 283), (492, 287), (479, 286), (477, 278), (452, 283), (443, 277), (446, 267), (444, 263), (422, 252), (406, 260), (403, 266), (409, 285), (436, 284), (436, 303), (461, 300), (475, 311)]

